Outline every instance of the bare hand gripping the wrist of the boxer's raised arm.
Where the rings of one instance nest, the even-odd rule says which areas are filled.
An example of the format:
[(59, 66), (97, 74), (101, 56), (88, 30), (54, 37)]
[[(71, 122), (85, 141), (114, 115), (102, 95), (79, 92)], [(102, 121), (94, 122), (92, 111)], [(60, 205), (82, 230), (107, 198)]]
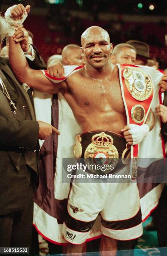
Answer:
[(23, 25), (20, 25), (15, 28), (15, 33), (13, 34), (13, 40), (15, 42), (20, 42), (20, 45), (23, 51), (29, 50), (30, 46), (28, 43), (28, 32), (23, 27)]

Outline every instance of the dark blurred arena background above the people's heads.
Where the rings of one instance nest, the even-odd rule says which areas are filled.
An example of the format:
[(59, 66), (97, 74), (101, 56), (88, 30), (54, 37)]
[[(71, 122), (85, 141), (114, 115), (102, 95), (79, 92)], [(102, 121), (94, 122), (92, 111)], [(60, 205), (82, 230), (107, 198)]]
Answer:
[[(66, 44), (80, 45), (83, 31), (96, 25), (109, 32), (114, 46), (127, 40), (149, 44), (150, 56), (159, 61), (159, 68), (167, 68), (167, 0), (1, 0), (0, 3), (3, 13), (14, 4), (31, 5), (24, 26), (33, 33), (34, 44), (45, 61), (53, 54), (61, 54)], [(142, 8), (138, 8), (139, 3)], [(154, 10), (149, 10), (151, 4)]]

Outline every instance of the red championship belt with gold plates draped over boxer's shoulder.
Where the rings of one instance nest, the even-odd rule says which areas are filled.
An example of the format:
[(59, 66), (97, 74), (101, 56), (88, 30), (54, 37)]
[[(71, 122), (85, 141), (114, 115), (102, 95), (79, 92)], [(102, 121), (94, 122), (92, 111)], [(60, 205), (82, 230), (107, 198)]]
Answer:
[[(142, 125), (150, 110), (153, 99), (153, 84), (150, 77), (140, 67), (121, 68), (121, 92), (127, 113), (128, 124)], [(137, 177), (138, 145), (133, 146), (132, 178)]]

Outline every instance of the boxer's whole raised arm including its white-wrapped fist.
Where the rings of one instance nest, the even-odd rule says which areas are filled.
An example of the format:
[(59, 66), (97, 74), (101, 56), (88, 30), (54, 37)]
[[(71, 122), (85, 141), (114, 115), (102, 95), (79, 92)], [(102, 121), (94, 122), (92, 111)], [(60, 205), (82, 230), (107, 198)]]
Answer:
[[(26, 82), (35, 90), (46, 93), (62, 92), (63, 90), (66, 90), (66, 82), (55, 84), (49, 81), (41, 71), (30, 69), (20, 47), (19, 42), (21, 39), (17, 39), (15, 42), (13, 41), (12, 35), (15, 33), (15, 26), (20, 26), (23, 23), (29, 11), (30, 5), (24, 7), (22, 4), (19, 4), (8, 8), (5, 13), (5, 18), (8, 23), (9, 59), (13, 72), (20, 82)], [(59, 66), (57, 69), (59, 77), (61, 77), (60, 74), (63, 74), (63, 67), (61, 67), (61, 72)]]

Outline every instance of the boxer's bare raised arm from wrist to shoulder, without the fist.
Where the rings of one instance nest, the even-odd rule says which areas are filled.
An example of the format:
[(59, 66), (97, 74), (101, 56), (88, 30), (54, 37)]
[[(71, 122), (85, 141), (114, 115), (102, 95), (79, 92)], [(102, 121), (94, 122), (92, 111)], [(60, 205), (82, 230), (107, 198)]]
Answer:
[(66, 82), (55, 84), (48, 80), (40, 70), (30, 69), (20, 43), (15, 43), (12, 36), (9, 37), (9, 61), (17, 79), (22, 83), (27, 83), (31, 88), (46, 93), (66, 90)]

